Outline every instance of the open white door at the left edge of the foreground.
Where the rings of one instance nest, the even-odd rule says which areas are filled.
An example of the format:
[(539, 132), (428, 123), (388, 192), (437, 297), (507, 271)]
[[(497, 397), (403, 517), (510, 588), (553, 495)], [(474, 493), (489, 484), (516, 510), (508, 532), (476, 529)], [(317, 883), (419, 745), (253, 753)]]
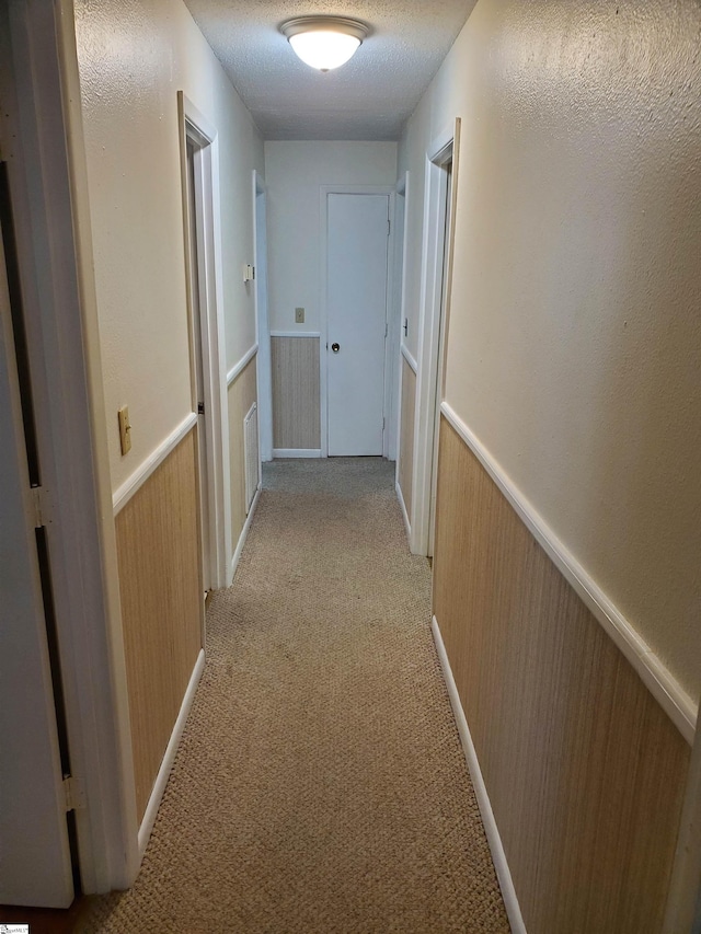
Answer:
[[(13, 304), (18, 330), (16, 300)], [(31, 433), (30, 413), (27, 399)], [(33, 520), (1, 243), (0, 477), (0, 903), (67, 908), (73, 883), (39, 570), (43, 549)]]

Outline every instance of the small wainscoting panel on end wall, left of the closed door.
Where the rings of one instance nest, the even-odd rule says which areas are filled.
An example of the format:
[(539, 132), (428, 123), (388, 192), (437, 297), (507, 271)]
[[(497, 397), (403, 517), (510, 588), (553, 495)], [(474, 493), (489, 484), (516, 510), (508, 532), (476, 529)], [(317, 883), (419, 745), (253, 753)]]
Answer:
[(319, 337), (271, 337), (273, 447), (321, 447)]

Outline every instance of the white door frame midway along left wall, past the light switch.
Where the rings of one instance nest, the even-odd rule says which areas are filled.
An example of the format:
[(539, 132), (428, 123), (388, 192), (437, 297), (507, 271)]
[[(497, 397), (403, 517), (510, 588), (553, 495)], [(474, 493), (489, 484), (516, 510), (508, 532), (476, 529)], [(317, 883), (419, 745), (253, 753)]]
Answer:
[[(207, 452), (207, 499), (209, 533), (209, 584), (226, 587), (229, 583), (231, 560), (231, 488), (229, 419), (227, 413), (227, 380), (225, 359), (225, 322), (220, 296), (221, 278), (221, 218), (219, 189), (219, 141), (216, 127), (182, 92), (177, 92), (177, 119), (181, 146), (181, 173), (183, 208), (187, 204), (187, 140), (196, 147), (195, 215), (197, 221), (197, 268), (199, 285), (199, 324), (202, 368), (205, 387), (205, 435)], [(183, 218), (186, 257), (189, 237), (186, 216)], [(189, 262), (185, 263), (187, 293), (189, 296)], [(189, 307), (191, 384), (193, 412), (197, 411), (195, 381), (195, 326)]]

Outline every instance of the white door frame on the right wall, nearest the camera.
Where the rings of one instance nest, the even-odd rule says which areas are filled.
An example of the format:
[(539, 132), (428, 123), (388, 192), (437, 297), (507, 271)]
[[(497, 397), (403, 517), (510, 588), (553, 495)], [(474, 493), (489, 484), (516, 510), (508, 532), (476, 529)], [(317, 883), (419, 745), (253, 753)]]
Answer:
[[(410, 546), (413, 554), (428, 554), (430, 533), (430, 496), (434, 465), (434, 434), (437, 411), (438, 355), (441, 310), (448, 315), (449, 301), (443, 301), (446, 249), (451, 250), (452, 230), (446, 230), (448, 173), (452, 162), (453, 204), (457, 189), (457, 146), (460, 120), (446, 128), (426, 153), (424, 191), (424, 237), (422, 250), (421, 296), (418, 316), (418, 372), (414, 418), (414, 459), (412, 476), (412, 516)], [(449, 289), (450, 263), (446, 288)]]

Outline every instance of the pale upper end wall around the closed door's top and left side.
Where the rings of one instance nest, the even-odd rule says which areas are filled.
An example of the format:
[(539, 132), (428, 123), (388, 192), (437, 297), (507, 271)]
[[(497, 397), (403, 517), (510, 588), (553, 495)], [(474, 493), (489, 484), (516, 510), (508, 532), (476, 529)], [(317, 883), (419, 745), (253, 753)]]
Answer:
[(321, 186), (394, 185), (397, 143), (268, 141), (265, 182), (271, 330), (319, 331)]

